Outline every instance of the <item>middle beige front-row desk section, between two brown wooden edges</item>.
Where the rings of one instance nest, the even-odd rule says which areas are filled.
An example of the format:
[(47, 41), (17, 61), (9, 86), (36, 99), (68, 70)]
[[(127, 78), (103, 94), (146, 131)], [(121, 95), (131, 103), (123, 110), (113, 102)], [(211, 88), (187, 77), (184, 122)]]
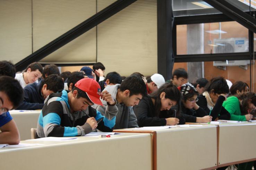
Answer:
[(205, 169), (217, 163), (216, 125), (157, 131), (157, 169)]

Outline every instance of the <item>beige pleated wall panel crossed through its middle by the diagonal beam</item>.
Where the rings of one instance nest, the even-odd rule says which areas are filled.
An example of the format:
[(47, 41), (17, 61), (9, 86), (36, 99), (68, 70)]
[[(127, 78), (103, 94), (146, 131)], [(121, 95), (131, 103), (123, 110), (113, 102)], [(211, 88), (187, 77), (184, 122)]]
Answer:
[[(96, 0), (33, 0), (33, 51), (96, 13)], [(42, 59), (41, 63), (94, 63), (96, 28)]]

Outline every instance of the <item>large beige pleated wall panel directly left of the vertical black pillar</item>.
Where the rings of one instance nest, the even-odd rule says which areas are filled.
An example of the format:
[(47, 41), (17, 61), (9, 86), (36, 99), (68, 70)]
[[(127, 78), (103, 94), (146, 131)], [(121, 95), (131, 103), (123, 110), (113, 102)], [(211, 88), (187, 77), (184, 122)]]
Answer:
[[(104, 64), (106, 74), (157, 73), (156, 2), (138, 0), (98, 25), (97, 62)], [(97, 4), (102, 9), (106, 1), (98, 0)]]

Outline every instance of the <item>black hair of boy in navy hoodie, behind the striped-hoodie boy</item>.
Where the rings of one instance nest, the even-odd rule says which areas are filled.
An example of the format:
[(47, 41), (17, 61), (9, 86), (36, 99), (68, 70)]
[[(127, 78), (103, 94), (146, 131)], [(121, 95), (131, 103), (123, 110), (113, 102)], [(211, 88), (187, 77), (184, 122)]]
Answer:
[(42, 79), (40, 87), (42, 88), (44, 84), (47, 85), (46, 89), (53, 91), (53, 93), (57, 93), (59, 90), (64, 89), (63, 79), (57, 74), (52, 74), (45, 79)]

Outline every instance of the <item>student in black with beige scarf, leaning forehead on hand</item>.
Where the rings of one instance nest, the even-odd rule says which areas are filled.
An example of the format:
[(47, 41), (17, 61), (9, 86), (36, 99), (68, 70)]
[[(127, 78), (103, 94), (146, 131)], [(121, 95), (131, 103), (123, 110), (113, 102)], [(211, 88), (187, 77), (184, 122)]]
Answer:
[[(223, 77), (215, 77), (205, 87), (205, 92), (198, 96), (196, 104), (202, 107), (212, 120), (230, 120), (229, 112), (222, 106), (227, 99), (229, 86)], [(211, 114), (210, 114), (211, 113)]]

